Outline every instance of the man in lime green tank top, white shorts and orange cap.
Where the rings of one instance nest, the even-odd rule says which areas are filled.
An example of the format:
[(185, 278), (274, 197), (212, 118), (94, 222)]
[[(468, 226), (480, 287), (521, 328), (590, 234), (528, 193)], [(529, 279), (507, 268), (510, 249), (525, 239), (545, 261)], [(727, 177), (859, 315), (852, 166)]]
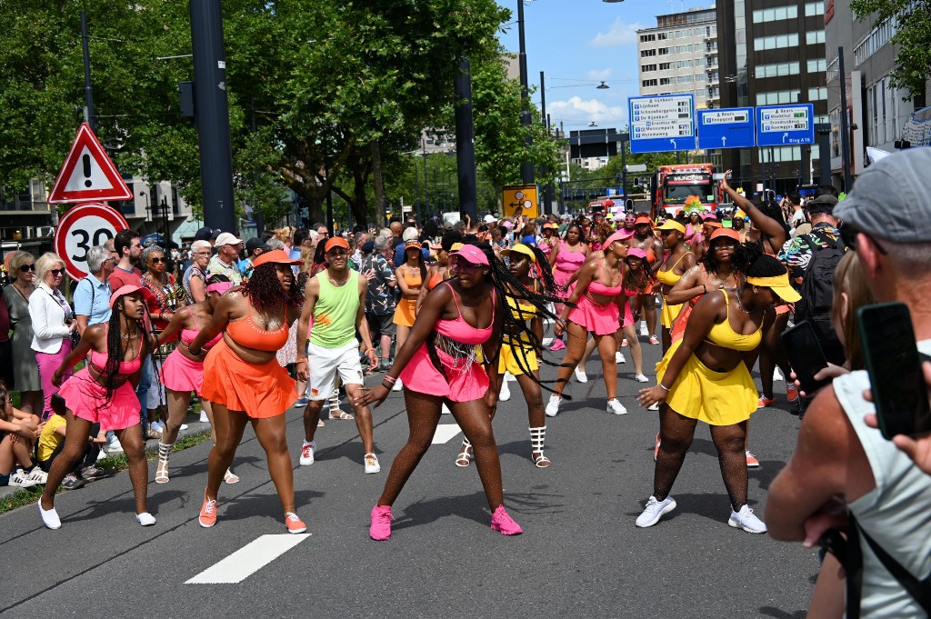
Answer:
[[(356, 411), (356, 427), (365, 447), (366, 473), (378, 473), (381, 466), (375, 456), (375, 443), (371, 431), (371, 410), (362, 401), (362, 365), (358, 358), (356, 331), (362, 336), (364, 352), (371, 362), (371, 370), (378, 367), (378, 357), (371, 345), (369, 323), (365, 319), (365, 297), (369, 282), (348, 267), (349, 244), (341, 236), (327, 241), (325, 247), (327, 268), (307, 280), (304, 287), (304, 311), (297, 327), (297, 375), (309, 381), (310, 397), (304, 410), (304, 445), (301, 464), (314, 464), (317, 451), (317, 422), (323, 402), (333, 392), (336, 374), (343, 381), (346, 396)], [(312, 324), (311, 324), (312, 321)], [(310, 343), (307, 343), (307, 327)], [(313, 371), (308, 369), (308, 357)], [(346, 417), (344, 417), (346, 418)]]

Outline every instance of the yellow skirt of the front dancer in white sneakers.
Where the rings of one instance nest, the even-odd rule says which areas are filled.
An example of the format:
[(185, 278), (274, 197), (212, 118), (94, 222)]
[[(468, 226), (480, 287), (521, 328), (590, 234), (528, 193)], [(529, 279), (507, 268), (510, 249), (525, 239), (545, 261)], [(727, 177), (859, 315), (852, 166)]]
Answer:
[[(656, 364), (656, 379), (662, 383), (669, 359), (679, 350), (673, 343)], [(676, 382), (669, 387), (666, 403), (683, 417), (709, 425), (734, 425), (747, 421), (756, 412), (760, 394), (743, 362), (734, 370), (708, 370), (692, 355), (682, 367)]]

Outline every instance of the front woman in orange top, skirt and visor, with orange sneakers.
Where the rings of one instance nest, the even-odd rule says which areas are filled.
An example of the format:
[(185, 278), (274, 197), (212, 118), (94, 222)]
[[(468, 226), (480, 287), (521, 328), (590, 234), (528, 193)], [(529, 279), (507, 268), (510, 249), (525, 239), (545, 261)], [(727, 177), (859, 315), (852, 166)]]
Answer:
[(251, 423), (268, 458), (268, 471), (284, 507), (285, 526), (291, 533), (307, 530), (294, 507), (294, 476), (285, 432), (284, 413), (297, 394), (294, 381), (275, 358), (301, 312), (301, 289), (295, 286), (291, 270), (296, 263), (280, 249), (259, 256), (249, 282), (223, 294), (209, 324), (187, 346), (193, 357), (200, 357), (203, 346), (223, 333), (204, 359), (201, 386), (213, 408), (217, 437), (210, 450), (207, 489), (200, 508), (204, 528), (217, 522), (217, 492)]

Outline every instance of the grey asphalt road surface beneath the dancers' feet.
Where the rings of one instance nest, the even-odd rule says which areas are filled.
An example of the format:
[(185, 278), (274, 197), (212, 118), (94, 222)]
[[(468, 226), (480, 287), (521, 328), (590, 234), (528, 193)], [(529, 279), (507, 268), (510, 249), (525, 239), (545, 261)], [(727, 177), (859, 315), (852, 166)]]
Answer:
[[(659, 346), (644, 351), (650, 369)], [(154, 527), (133, 518), (126, 473), (60, 494), (59, 531), (42, 526), (34, 505), (0, 517), (7, 564), (0, 615), (803, 617), (815, 554), (727, 526), (730, 507), (707, 426), (699, 424), (673, 487), (678, 509), (653, 528), (634, 526), (653, 486), (656, 413), (636, 406), (641, 385), (629, 362), (619, 370), (630, 410), (623, 416), (604, 410), (600, 363), (591, 361), (588, 370), (589, 382), (573, 381), (573, 401), (547, 419), (548, 469), (530, 461), (516, 383), (499, 407), (494, 431), (506, 505), (523, 535), (490, 530), (475, 465), (453, 465), (459, 434), (425, 455), (395, 505), (391, 540), (369, 539), (371, 506), (407, 437), (403, 398), (392, 394), (375, 411), (377, 475), (363, 474), (350, 421), (327, 422), (317, 432), (317, 463), (298, 466), (302, 411), (288, 413), (296, 502), (310, 533), (303, 538), (285, 532), (250, 429), (235, 463), (242, 481), (223, 486), (212, 529), (197, 524), (209, 443), (173, 455), (169, 484), (150, 483)], [(782, 387), (777, 383), (776, 392)], [(778, 396), (775, 407), (752, 417), (751, 450), (762, 467), (749, 472), (749, 501), (761, 517), (798, 431), (787, 408)], [(441, 423), (452, 424), (452, 417)], [(216, 580), (217, 573), (239, 582), (186, 584)]]

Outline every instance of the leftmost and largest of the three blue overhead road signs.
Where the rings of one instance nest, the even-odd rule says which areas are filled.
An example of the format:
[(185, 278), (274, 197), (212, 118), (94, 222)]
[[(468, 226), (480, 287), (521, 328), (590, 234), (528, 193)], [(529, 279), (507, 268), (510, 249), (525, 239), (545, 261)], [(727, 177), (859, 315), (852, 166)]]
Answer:
[(695, 150), (695, 96), (631, 97), (630, 152)]

